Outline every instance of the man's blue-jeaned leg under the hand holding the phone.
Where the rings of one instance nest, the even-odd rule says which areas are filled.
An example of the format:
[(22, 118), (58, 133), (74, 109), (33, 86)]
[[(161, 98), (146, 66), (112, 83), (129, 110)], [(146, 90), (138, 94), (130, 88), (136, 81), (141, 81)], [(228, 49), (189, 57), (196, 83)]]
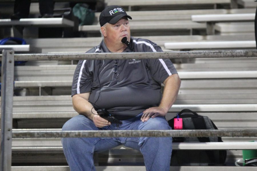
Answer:
[[(108, 127), (107, 127), (108, 128)], [(71, 118), (62, 131), (93, 131), (97, 128), (91, 119), (83, 115)], [(112, 138), (62, 138), (63, 151), (71, 171), (95, 171), (93, 153), (120, 145)]]

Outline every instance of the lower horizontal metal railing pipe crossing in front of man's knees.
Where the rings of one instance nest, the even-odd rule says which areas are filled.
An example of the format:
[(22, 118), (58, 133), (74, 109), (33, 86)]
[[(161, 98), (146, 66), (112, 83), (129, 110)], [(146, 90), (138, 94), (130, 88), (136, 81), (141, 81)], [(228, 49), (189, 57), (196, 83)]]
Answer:
[(67, 138), (67, 137), (257, 137), (257, 129), (13, 131), (13, 138)]

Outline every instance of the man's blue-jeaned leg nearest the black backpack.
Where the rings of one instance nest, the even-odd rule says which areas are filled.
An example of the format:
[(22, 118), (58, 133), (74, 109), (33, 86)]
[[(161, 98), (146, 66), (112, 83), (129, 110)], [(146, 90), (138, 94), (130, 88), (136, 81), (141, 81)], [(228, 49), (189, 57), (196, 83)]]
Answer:
[[(164, 117), (158, 116), (142, 122), (141, 116), (142, 114), (134, 119), (130, 130), (171, 129)], [(172, 137), (128, 137), (124, 145), (141, 151), (144, 156), (146, 171), (168, 171), (170, 169)]]

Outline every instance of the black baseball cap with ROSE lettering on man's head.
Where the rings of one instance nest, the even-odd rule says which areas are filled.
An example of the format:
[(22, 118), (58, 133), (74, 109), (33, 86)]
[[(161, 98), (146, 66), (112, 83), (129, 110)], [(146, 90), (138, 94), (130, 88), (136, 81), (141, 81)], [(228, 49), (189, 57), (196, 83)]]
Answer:
[(119, 21), (119, 19), (121, 19), (124, 16), (132, 20), (132, 18), (129, 15), (127, 15), (126, 11), (121, 6), (108, 6), (101, 12), (99, 16), (100, 26), (102, 27), (103, 25), (105, 25), (105, 23), (115, 24), (117, 23), (117, 21)]

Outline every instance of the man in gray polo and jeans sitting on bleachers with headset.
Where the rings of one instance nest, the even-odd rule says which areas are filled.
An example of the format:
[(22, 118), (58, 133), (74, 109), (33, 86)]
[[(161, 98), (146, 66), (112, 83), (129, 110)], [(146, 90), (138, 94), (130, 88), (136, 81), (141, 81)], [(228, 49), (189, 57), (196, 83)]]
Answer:
[[(162, 52), (150, 40), (131, 37), (128, 19), (122, 7), (106, 7), (99, 17), (103, 40), (87, 53)], [(80, 115), (62, 130), (170, 130), (165, 115), (179, 87), (169, 59), (80, 60), (72, 85), (73, 107)], [(63, 138), (62, 144), (71, 171), (95, 170), (93, 153), (121, 144), (140, 150), (147, 171), (170, 168), (171, 137)]]

